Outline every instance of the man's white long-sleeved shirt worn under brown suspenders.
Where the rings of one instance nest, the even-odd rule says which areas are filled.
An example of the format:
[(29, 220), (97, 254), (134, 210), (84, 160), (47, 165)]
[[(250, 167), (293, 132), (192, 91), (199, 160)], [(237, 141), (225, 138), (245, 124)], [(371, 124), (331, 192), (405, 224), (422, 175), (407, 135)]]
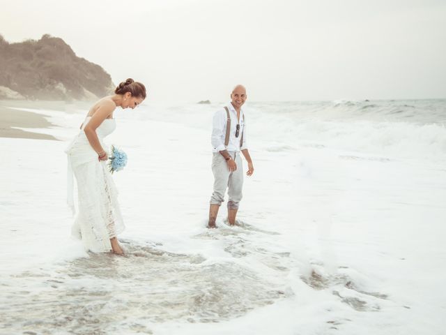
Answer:
[[(248, 149), (246, 144), (246, 125), (243, 121), (243, 109), (240, 108), (240, 131), (238, 137), (236, 137), (236, 128), (239, 123), (237, 119), (237, 111), (231, 103), (227, 104), (229, 109), (229, 116), (231, 117), (231, 131), (229, 133), (229, 143), (227, 147), (224, 147), (224, 138), (226, 137), (226, 123), (227, 116), (224, 108), (217, 110), (213, 117), (212, 135), (210, 136), (210, 143), (213, 147), (213, 152), (222, 151), (224, 149), (228, 151), (240, 151)], [(240, 147), (240, 137), (243, 133), (243, 143)]]

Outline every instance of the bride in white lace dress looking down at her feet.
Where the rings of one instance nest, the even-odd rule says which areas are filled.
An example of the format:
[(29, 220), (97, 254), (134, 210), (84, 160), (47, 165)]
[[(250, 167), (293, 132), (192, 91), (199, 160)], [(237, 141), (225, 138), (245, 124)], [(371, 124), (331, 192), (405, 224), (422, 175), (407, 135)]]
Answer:
[(107, 169), (108, 154), (102, 142), (116, 128), (116, 107), (134, 108), (146, 98), (146, 87), (132, 79), (121, 82), (113, 96), (96, 102), (81, 131), (66, 149), (68, 155), (68, 204), (74, 209), (72, 174), (77, 180), (79, 211), (72, 234), (82, 239), (86, 250), (123, 254), (116, 235), (124, 230), (117, 191)]

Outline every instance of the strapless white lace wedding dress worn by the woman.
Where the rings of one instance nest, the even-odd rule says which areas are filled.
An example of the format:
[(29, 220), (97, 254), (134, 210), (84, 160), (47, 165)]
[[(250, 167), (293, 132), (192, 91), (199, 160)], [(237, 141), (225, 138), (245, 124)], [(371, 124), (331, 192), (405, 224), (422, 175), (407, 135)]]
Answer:
[[(123, 219), (118, 204), (118, 192), (114, 185), (105, 161), (98, 161), (98, 154), (94, 151), (86, 138), (84, 128), (91, 117), (86, 117), (82, 130), (68, 148), (68, 204), (74, 211), (73, 179), (77, 180), (78, 211), (72, 234), (82, 239), (86, 250), (95, 253), (112, 250), (110, 239), (124, 230)], [(102, 144), (107, 135), (116, 128), (114, 119), (105, 119), (96, 128), (96, 133)]]

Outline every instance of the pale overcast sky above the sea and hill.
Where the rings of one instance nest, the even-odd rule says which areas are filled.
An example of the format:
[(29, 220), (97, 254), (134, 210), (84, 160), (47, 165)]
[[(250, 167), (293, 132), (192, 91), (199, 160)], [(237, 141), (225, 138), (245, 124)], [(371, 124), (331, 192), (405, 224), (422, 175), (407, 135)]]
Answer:
[(9, 42), (63, 38), (154, 101), (446, 98), (445, 0), (0, 0)]

